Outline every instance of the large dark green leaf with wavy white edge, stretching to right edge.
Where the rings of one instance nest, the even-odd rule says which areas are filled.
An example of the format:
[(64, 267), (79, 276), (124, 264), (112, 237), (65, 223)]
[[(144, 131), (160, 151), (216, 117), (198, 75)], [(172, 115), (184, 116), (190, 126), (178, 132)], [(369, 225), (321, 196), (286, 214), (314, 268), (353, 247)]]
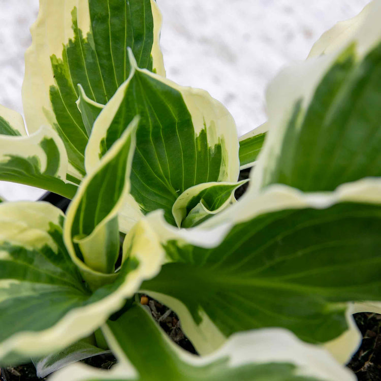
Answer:
[[(169, 263), (143, 283), (142, 292), (179, 314), (200, 353), (234, 332), (262, 327), (330, 342), (348, 330), (348, 302), (381, 300), (377, 180), (327, 195), (281, 185), (257, 197), (249, 192), (216, 217), (233, 228), (215, 248), (187, 244), (186, 234), (176, 238), (171, 229), (166, 236), (160, 213), (149, 219)], [(212, 219), (204, 229), (215, 224)], [(345, 360), (358, 344), (354, 335), (341, 348)]]

